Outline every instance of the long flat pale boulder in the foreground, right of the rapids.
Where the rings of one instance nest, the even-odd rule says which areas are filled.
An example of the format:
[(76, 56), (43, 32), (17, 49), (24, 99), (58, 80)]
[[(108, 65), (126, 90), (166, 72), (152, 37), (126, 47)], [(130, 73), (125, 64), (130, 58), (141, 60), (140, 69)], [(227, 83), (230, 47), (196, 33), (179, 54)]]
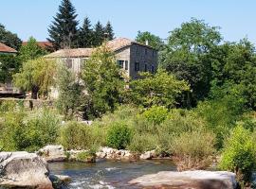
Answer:
[(235, 174), (227, 171), (163, 171), (129, 183), (145, 188), (234, 189), (237, 186)]

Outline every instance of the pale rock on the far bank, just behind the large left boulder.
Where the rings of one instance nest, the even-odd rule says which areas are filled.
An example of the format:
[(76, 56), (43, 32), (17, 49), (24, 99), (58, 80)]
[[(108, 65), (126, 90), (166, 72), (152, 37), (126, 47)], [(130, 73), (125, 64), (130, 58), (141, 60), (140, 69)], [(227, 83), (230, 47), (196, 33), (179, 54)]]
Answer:
[(47, 163), (64, 162), (66, 160), (64, 146), (45, 146), (39, 149), (38, 154), (44, 157)]

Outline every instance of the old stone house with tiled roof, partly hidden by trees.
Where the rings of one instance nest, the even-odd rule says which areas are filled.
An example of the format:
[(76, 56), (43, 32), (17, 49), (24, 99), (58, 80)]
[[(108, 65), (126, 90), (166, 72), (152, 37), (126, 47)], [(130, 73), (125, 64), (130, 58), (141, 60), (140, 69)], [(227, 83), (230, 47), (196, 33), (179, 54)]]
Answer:
[[(109, 41), (106, 45), (115, 53), (117, 63), (127, 77), (136, 79), (139, 72), (155, 73), (158, 56), (153, 47), (126, 38)], [(93, 51), (93, 48), (62, 49), (46, 55), (46, 59), (65, 63), (74, 73), (80, 73), (83, 61), (88, 59)]]

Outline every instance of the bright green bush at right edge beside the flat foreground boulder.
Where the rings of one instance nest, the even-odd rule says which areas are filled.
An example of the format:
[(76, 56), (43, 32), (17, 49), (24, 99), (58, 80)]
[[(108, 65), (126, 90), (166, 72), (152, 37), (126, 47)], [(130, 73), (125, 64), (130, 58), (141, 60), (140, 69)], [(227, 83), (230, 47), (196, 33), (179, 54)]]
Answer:
[(249, 181), (256, 165), (255, 155), (251, 132), (237, 126), (226, 143), (219, 167), (236, 173), (242, 182)]

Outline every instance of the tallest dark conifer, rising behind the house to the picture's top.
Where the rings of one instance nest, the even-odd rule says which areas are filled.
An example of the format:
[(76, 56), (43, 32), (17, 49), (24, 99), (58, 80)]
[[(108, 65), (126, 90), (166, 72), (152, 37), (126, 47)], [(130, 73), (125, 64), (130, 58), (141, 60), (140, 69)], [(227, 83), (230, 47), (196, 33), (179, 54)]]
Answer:
[(77, 46), (79, 22), (76, 20), (76, 9), (70, 0), (63, 0), (59, 12), (54, 17), (52, 25), (48, 28), (50, 43), (57, 50), (60, 48), (72, 48)]

